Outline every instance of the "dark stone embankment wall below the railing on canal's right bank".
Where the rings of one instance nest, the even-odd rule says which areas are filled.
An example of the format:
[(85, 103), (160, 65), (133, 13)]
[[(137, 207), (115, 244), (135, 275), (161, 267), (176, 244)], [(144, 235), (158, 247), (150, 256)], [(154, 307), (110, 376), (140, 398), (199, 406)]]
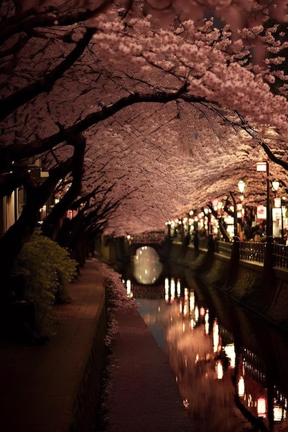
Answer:
[(173, 244), (169, 262), (189, 268), (204, 283), (288, 330), (288, 271), (272, 268), (267, 277), (263, 264), (231, 262), (230, 257), (182, 244)]

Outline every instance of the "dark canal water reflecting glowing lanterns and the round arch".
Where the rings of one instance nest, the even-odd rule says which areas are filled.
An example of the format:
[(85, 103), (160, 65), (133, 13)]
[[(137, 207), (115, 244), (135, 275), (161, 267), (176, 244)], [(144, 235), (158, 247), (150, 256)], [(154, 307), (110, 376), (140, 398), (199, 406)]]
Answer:
[(286, 333), (148, 246), (124, 280), (198, 431), (288, 431)]

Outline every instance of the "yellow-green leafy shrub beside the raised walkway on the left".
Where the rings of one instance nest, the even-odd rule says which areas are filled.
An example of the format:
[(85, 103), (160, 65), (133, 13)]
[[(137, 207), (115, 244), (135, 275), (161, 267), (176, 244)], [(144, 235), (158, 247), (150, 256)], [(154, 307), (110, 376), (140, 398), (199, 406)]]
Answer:
[(37, 333), (51, 335), (52, 305), (68, 300), (66, 286), (76, 275), (77, 262), (68, 251), (38, 231), (24, 244), (15, 262), (12, 277), (17, 284), (11, 295), (34, 302)]

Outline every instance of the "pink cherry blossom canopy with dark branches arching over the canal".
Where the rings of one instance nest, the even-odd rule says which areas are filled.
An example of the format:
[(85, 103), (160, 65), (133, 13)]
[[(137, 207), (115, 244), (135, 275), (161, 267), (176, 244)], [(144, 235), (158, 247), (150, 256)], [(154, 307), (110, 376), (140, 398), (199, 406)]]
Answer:
[[(87, 237), (140, 232), (227, 195), (243, 177), (255, 204), (265, 195), (255, 169), (263, 157), (287, 184), (286, 2), (273, 3), (3, 2), (0, 193), (24, 186), (31, 198), (0, 239), (10, 248), (1, 273), (50, 194), (61, 200), (44, 231), (56, 239), (68, 208)], [(207, 10), (232, 30), (202, 20)], [(42, 185), (23, 168), (40, 156), (50, 174)]]

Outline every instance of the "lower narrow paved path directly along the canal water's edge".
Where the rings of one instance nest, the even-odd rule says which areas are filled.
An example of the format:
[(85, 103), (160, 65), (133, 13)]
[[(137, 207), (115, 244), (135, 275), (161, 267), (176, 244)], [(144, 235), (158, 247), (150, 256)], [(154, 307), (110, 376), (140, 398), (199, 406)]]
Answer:
[(169, 361), (136, 310), (117, 311), (106, 432), (192, 432)]

